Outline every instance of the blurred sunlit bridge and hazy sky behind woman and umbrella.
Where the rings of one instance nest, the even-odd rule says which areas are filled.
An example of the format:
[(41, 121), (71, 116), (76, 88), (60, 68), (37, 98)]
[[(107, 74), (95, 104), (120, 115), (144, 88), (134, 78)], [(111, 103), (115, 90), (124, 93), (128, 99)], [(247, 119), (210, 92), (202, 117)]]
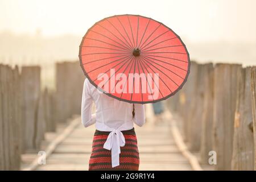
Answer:
[(164, 23), (196, 61), (183, 89), (146, 105), (140, 169), (212, 169), (213, 151), (216, 170), (256, 170), (254, 0), (1, 0), (0, 170), (88, 169), (94, 127), (79, 117), (79, 45), (95, 22), (118, 14)]

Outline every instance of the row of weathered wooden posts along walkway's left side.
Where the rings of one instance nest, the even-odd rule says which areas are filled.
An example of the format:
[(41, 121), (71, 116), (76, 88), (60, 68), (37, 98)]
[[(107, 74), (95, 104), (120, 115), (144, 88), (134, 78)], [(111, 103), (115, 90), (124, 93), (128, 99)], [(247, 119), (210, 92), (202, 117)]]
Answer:
[(56, 90), (41, 88), (40, 67), (0, 64), (0, 170), (20, 169), (20, 156), (38, 149), (57, 122), (80, 114), (84, 75), (78, 61), (56, 64)]

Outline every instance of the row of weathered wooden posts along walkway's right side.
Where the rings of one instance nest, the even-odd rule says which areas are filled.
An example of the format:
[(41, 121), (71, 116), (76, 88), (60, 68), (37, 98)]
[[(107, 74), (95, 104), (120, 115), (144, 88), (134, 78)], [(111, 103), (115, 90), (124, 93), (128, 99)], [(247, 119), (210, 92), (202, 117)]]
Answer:
[(182, 118), (183, 138), (216, 170), (256, 168), (256, 67), (192, 62), (187, 83), (167, 102)]

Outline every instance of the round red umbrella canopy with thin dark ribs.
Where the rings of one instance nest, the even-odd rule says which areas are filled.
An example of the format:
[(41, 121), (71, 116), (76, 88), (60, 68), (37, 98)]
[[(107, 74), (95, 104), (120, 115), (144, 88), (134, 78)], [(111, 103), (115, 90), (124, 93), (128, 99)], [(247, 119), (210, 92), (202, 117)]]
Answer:
[(189, 74), (189, 53), (163, 23), (140, 15), (100, 20), (80, 44), (81, 67), (91, 84), (130, 103), (153, 103), (174, 95)]

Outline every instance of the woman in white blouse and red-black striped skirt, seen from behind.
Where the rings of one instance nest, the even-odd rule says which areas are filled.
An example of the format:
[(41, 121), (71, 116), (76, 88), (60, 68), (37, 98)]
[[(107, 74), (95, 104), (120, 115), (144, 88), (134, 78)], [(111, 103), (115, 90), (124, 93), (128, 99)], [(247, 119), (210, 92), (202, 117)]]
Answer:
[[(96, 114), (92, 114), (92, 102)], [(82, 124), (96, 124), (89, 170), (138, 170), (139, 151), (133, 122), (145, 122), (144, 105), (118, 101), (101, 93), (86, 78), (82, 92)]]

